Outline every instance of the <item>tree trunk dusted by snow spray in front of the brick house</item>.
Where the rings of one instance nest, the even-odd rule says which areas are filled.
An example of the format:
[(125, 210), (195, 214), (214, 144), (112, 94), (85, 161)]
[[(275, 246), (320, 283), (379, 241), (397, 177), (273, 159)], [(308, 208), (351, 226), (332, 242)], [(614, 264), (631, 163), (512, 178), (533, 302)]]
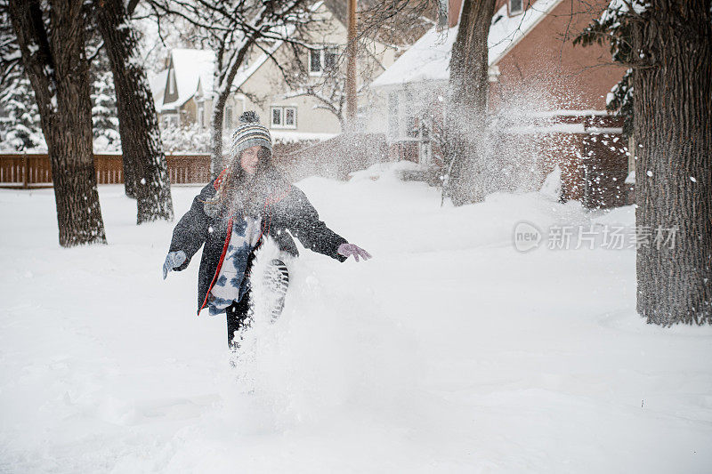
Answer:
[(455, 205), (477, 202), (485, 194), (473, 176), (478, 173), (478, 161), (484, 159), (481, 137), (489, 91), (487, 37), (494, 11), (495, 0), (465, 0), (452, 46), (445, 191)]

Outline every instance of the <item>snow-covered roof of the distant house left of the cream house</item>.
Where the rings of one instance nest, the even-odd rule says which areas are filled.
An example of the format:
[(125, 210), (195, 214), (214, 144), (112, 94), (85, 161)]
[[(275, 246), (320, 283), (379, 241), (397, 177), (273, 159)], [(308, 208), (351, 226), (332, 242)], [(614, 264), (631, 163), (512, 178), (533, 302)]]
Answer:
[(198, 84), (202, 87), (205, 95), (210, 96), (213, 93), (214, 52), (210, 50), (174, 49), (171, 51), (171, 58), (178, 99), (163, 104), (163, 109), (182, 106), (198, 92)]

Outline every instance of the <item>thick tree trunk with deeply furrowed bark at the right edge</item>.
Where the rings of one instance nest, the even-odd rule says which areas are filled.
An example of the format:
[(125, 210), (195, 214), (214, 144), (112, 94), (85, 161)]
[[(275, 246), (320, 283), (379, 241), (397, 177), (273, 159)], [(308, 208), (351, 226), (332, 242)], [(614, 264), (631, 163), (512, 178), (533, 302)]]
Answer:
[(634, 51), (648, 59), (634, 72), (635, 221), (650, 236), (637, 251), (637, 310), (659, 325), (712, 324), (710, 2), (653, 0), (643, 15), (634, 30)]

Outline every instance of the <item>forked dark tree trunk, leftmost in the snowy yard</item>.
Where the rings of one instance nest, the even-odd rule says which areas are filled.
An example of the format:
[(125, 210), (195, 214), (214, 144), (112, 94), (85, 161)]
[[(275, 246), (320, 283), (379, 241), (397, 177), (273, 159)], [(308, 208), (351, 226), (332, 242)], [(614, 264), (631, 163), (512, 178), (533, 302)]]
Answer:
[(106, 243), (93, 162), (89, 62), (82, 0), (11, 0), (9, 12), (35, 91), (52, 165), (60, 245)]

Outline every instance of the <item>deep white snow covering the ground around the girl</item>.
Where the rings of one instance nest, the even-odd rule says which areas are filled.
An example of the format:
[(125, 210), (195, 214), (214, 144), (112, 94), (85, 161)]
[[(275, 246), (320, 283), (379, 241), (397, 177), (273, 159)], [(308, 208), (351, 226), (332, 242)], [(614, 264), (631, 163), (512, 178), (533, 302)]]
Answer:
[[(372, 179), (381, 176), (380, 179)], [(440, 207), (391, 173), (300, 183), (374, 255), (303, 252), (236, 367), (198, 256), (100, 188), (109, 245), (57, 245), (52, 190), (0, 190), (2, 472), (708, 472), (712, 330), (635, 314), (635, 251), (514, 250), (514, 224), (633, 224), (538, 193)], [(174, 187), (176, 213), (197, 188)]]

